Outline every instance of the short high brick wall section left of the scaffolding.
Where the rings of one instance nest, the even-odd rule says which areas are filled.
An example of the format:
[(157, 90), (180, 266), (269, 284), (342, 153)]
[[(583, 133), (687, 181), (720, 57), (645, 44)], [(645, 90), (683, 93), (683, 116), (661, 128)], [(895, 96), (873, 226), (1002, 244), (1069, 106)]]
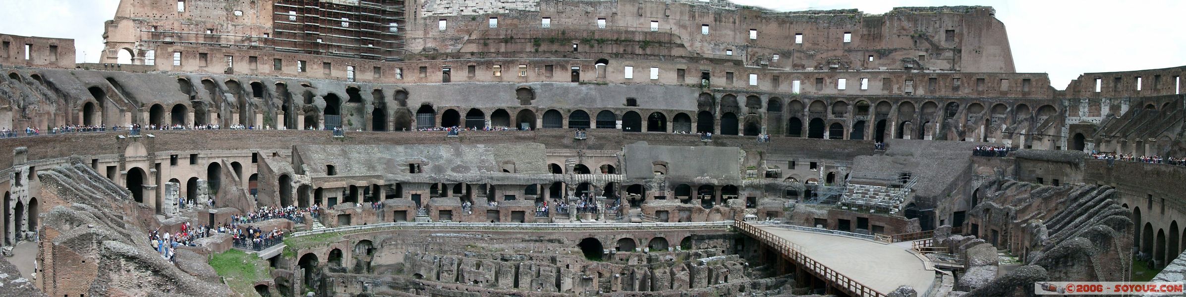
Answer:
[[(157, 43), (257, 45), (273, 33), (273, 0), (120, 0), (104, 22), (106, 49), (100, 63), (167, 64), (172, 56), (149, 54)], [(221, 58), (218, 57), (219, 62)]]

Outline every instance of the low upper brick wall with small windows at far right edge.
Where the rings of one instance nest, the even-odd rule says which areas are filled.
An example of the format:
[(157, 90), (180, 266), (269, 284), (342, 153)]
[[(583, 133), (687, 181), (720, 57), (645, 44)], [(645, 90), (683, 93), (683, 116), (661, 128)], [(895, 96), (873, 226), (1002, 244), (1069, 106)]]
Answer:
[[(1182, 93), (1186, 66), (1083, 73), (1066, 85), (1063, 98), (1121, 98)], [(1159, 106), (1160, 108), (1160, 106)]]

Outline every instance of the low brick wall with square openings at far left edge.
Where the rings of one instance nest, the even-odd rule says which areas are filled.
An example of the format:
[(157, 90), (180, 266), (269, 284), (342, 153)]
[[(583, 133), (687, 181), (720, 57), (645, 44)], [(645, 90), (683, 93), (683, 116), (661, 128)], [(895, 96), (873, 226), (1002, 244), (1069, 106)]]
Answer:
[(74, 39), (0, 34), (0, 65), (72, 69)]

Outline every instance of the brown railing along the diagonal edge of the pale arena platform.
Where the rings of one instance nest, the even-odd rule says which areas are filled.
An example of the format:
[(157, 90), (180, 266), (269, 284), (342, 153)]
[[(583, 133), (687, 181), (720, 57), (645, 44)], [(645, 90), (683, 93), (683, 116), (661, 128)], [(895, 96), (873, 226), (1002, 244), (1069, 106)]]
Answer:
[(850, 296), (862, 296), (862, 297), (886, 296), (885, 293), (878, 292), (876, 290), (873, 290), (872, 288), (868, 288), (867, 285), (861, 284), (860, 282), (856, 282), (855, 279), (848, 276), (844, 276), (844, 273), (840, 273), (839, 271), (835, 271), (816, 262), (815, 259), (811, 259), (811, 257), (808, 257), (802, 252), (803, 248), (799, 247), (799, 245), (791, 243), (790, 240), (786, 240), (782, 237), (777, 237), (770, 232), (760, 230), (741, 220), (734, 220), (733, 226), (741, 233), (745, 233), (766, 245), (770, 245), (776, 251), (782, 253), (783, 257), (786, 257), (791, 262), (803, 265), (803, 269), (809, 271), (811, 275), (820, 277), (824, 282), (831, 283), (834, 286), (836, 286), (837, 289), (844, 291)]

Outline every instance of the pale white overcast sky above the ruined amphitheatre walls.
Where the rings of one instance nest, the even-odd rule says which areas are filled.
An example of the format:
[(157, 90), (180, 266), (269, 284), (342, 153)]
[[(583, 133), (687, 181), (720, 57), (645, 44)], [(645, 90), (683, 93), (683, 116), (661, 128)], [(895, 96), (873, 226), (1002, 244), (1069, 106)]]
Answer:
[[(777, 11), (987, 5), (1009, 32), (1019, 72), (1046, 72), (1065, 89), (1084, 72), (1186, 65), (1186, 1), (734, 0)], [(72, 38), (78, 62), (98, 62), (103, 21), (119, 0), (0, 0), (0, 33)]]

